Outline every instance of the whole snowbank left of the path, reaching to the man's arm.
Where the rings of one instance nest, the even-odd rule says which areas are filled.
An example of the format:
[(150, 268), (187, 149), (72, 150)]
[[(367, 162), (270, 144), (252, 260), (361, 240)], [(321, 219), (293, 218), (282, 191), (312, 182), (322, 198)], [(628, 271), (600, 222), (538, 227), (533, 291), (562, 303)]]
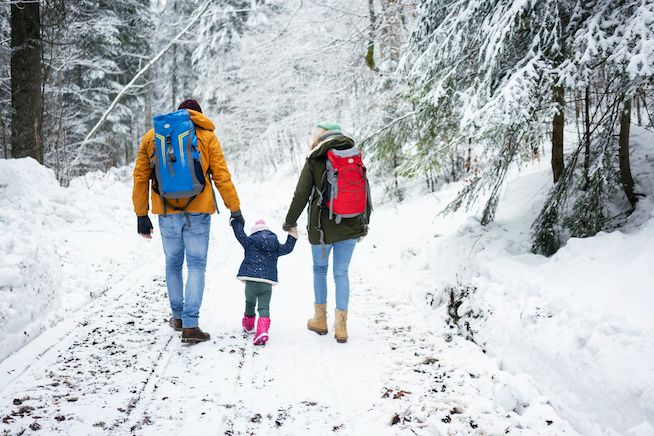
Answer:
[(130, 179), (122, 168), (62, 188), (33, 159), (0, 160), (0, 361), (136, 260)]

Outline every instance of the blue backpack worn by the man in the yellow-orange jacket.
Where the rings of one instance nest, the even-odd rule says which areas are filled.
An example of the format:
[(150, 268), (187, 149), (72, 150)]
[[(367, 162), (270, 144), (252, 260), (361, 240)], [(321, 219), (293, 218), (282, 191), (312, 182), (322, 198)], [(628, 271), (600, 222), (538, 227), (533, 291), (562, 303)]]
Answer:
[[(205, 174), (200, 163), (195, 124), (186, 109), (154, 117), (153, 189), (161, 196), (166, 216), (168, 207), (185, 211), (204, 190)], [(188, 198), (184, 207), (168, 203), (169, 198)]]

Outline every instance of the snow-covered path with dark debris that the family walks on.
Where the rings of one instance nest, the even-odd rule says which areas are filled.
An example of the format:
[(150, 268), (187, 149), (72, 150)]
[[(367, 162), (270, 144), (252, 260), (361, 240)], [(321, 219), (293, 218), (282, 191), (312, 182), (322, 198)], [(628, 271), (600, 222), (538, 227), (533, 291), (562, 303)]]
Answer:
[[(290, 186), (270, 196), (238, 186), (246, 219), (279, 227)], [(380, 209), (383, 228), (395, 217)], [(311, 267), (302, 242), (280, 259), (271, 340), (254, 347), (239, 325), (241, 248), (225, 215), (214, 217), (201, 313), (213, 337), (188, 346), (165, 323), (155, 235), (143, 241), (143, 262), (116, 271), (112, 289), (0, 363), (0, 431), (574, 434), (526, 377), (503, 371), (428, 301), (416, 307), (385, 239), (380, 231), (357, 248), (347, 344), (306, 330)]]

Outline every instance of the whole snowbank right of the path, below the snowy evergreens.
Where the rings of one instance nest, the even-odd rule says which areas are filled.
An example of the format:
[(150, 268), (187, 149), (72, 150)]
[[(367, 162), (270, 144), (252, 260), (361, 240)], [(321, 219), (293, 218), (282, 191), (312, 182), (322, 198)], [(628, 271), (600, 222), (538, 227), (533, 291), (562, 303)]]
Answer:
[(459, 185), (373, 216), (369, 239), (380, 249), (395, 247), (376, 265), (376, 285), (398, 295), (414, 288), (416, 316), (426, 325), (449, 317), (450, 289), (469, 289), (458, 308), (462, 329), (469, 325), (490, 356), (524, 374), (577, 431), (654, 435), (654, 147), (648, 138), (634, 138), (632, 153), (637, 192), (647, 197), (623, 231), (572, 239), (551, 258), (531, 254), (530, 226), (551, 186), (543, 159), (509, 178), (488, 226), (463, 212), (438, 215)]

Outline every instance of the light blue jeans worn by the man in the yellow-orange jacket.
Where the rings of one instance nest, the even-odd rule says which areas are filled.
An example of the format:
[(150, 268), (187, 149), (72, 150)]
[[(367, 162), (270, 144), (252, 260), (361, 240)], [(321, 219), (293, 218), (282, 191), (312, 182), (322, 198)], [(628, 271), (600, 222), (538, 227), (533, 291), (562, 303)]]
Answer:
[[(183, 213), (165, 217), (159, 215), (161, 241), (166, 255), (168, 300), (173, 317), (181, 319), (184, 328), (198, 326), (211, 226), (211, 215), (207, 213), (190, 213), (188, 217), (190, 226)], [(182, 281), (184, 254), (188, 269), (186, 292)]]

